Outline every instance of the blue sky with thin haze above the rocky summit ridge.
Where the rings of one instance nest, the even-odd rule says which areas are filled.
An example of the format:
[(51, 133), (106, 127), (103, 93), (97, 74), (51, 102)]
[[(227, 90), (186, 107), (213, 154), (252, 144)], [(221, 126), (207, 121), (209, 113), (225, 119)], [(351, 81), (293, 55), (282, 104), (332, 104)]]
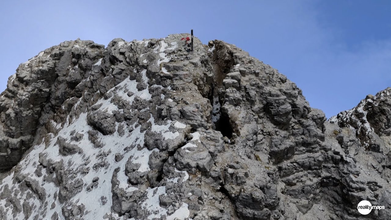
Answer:
[(0, 90), (20, 63), (65, 40), (131, 41), (190, 32), (272, 65), (331, 117), (391, 86), (387, 0), (1, 1)]

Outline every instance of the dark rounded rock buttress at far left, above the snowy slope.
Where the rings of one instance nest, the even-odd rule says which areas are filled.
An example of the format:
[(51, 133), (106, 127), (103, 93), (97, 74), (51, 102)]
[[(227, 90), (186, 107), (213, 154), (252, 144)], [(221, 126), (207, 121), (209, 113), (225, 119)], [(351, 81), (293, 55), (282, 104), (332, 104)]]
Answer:
[[(78, 42), (85, 48), (75, 47)], [(15, 166), (34, 139), (41, 141), (41, 133), (48, 133), (45, 124), (65, 100), (82, 95), (75, 87), (103, 49), (93, 41), (66, 41), (18, 67), (0, 97), (0, 170)]]

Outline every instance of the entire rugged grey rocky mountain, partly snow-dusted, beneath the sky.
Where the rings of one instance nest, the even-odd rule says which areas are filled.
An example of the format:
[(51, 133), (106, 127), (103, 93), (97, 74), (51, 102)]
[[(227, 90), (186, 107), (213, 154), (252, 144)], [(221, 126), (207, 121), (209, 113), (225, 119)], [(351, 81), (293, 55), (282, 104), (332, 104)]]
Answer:
[(326, 121), (276, 69), (187, 36), (21, 64), (0, 96), (0, 219), (391, 219), (389, 88)]

